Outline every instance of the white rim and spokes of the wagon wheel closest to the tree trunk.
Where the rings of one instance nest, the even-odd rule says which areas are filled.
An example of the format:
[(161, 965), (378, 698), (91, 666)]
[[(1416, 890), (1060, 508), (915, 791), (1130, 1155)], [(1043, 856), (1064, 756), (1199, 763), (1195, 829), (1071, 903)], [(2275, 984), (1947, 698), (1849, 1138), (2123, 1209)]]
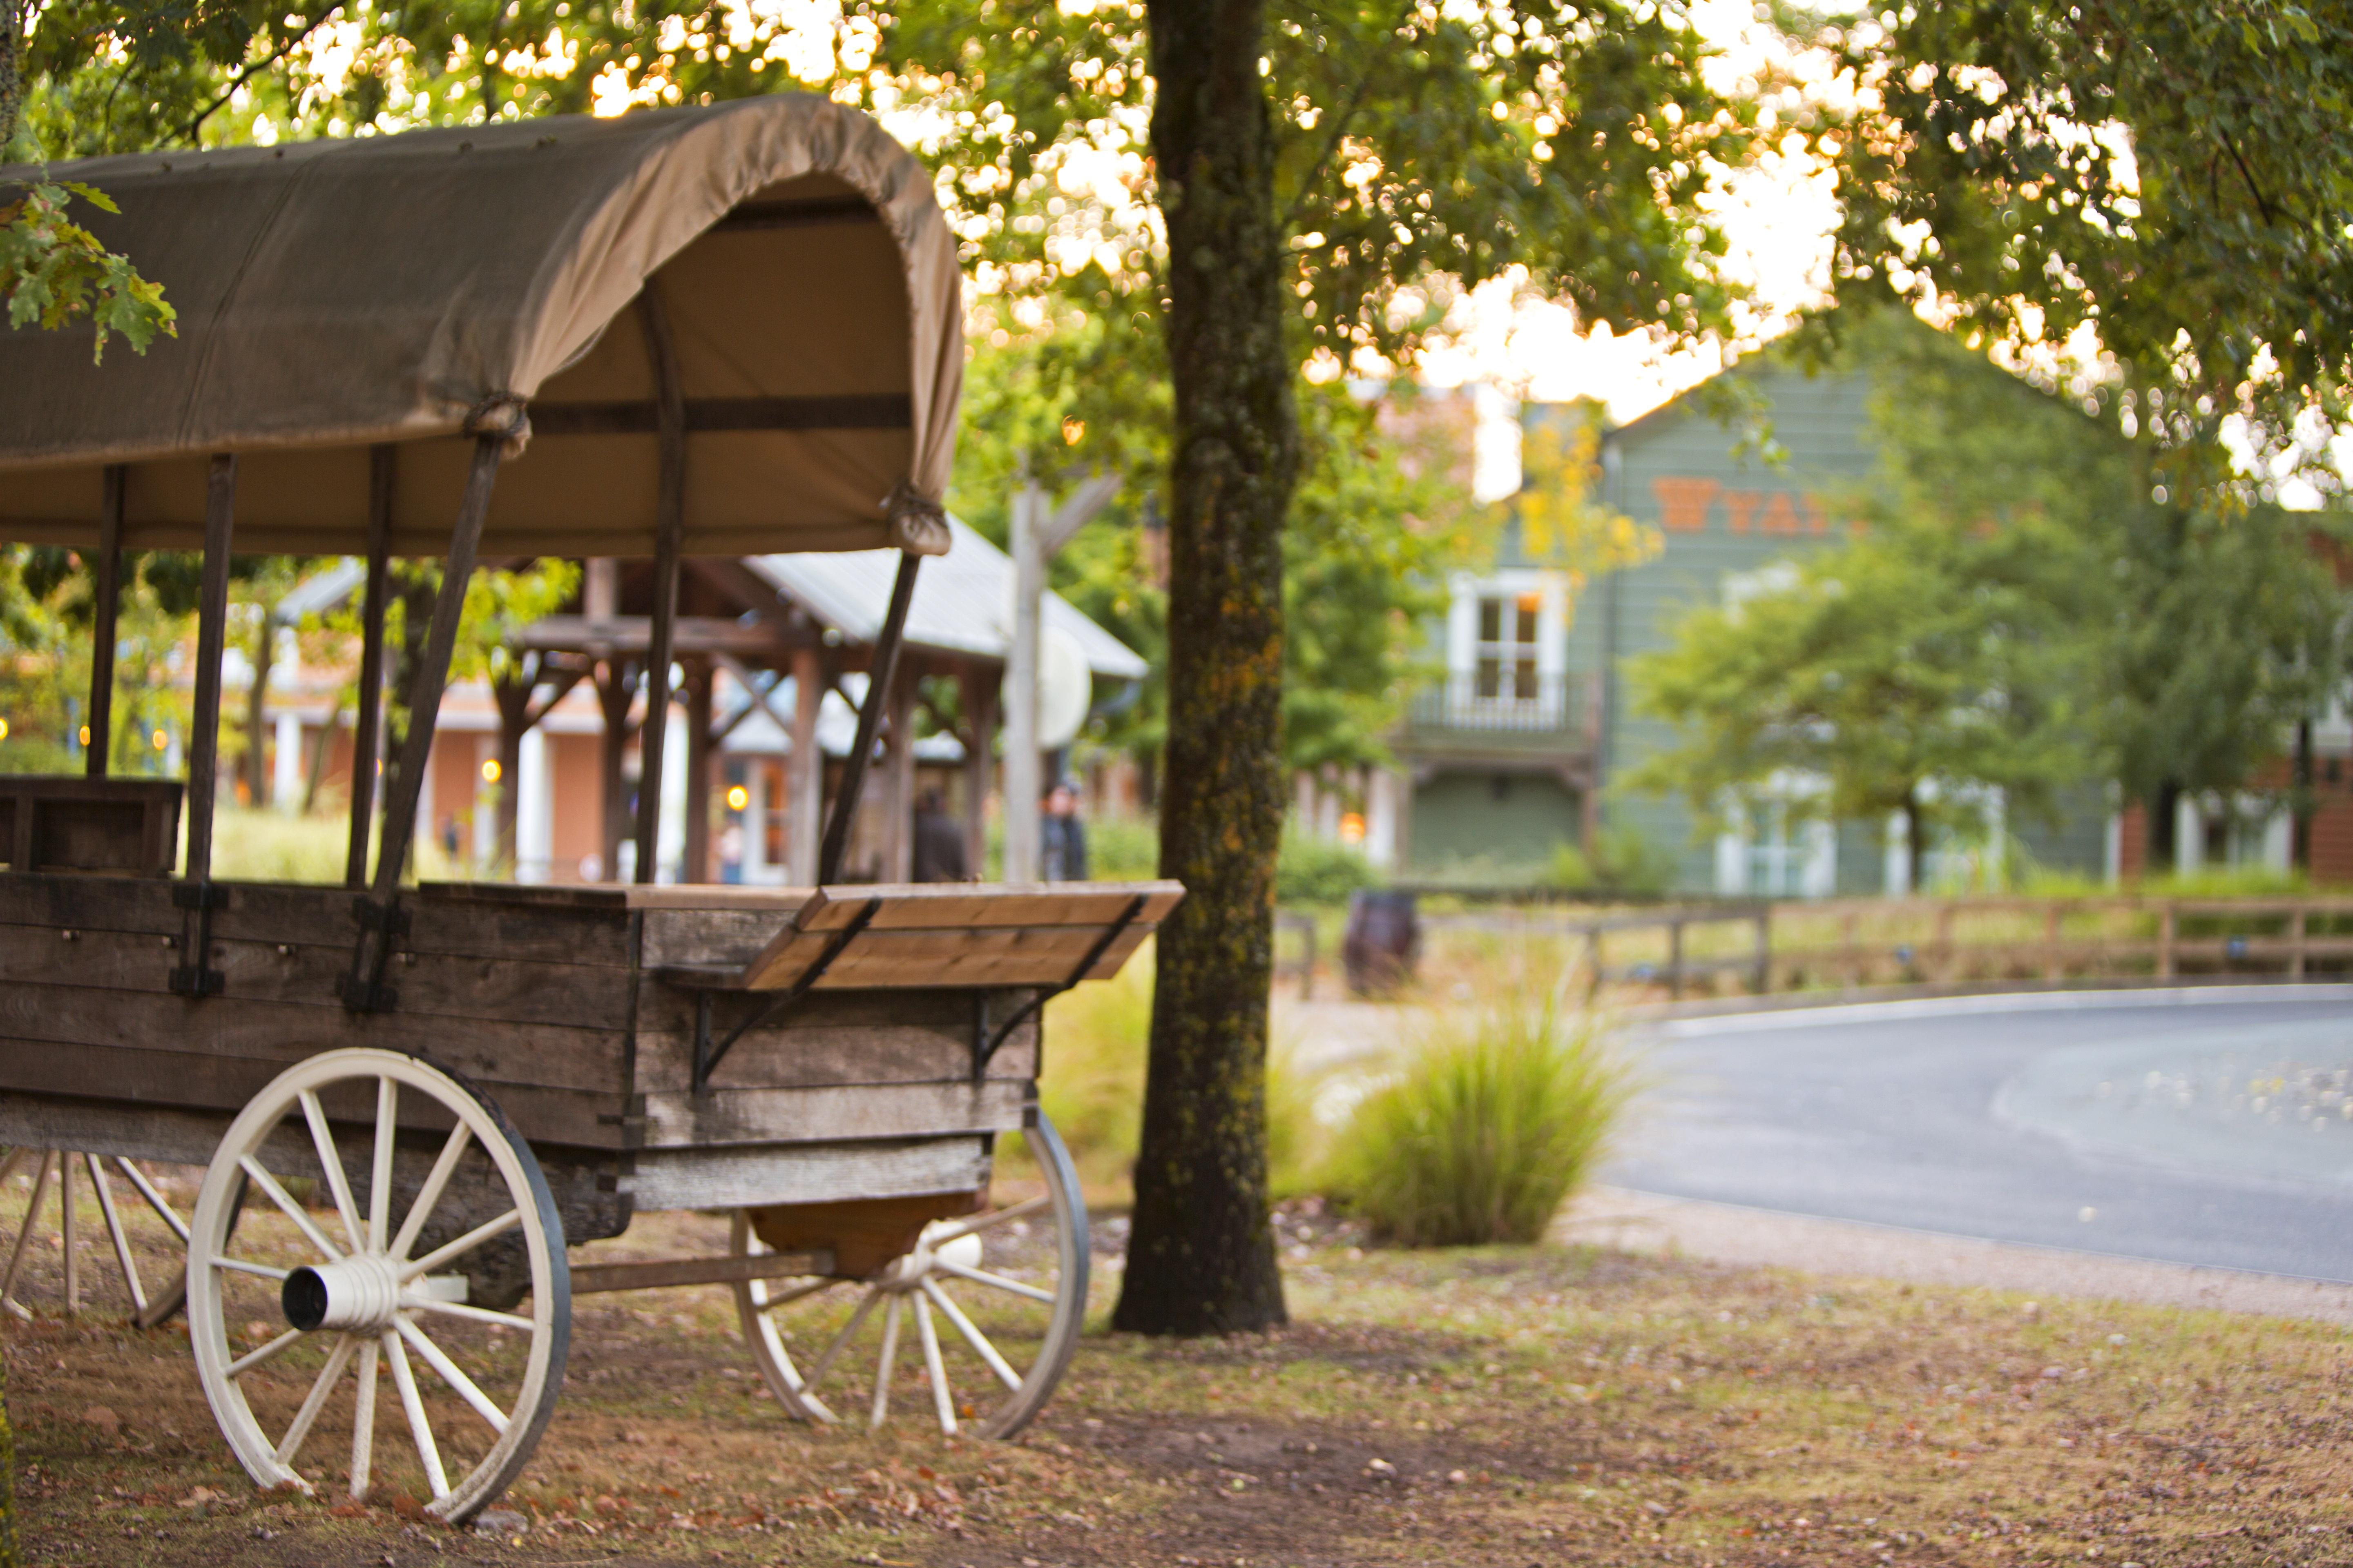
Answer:
[[(753, 1361), (760, 1375), (767, 1380), (769, 1392), (786, 1413), (814, 1422), (840, 1422), (842, 1415), (826, 1403), (826, 1394), (812, 1392), (812, 1375), (821, 1385), (838, 1389), (835, 1399), (849, 1408), (854, 1418), (864, 1418), (866, 1425), (878, 1427), (887, 1418), (887, 1378), (896, 1366), (899, 1354), (913, 1352), (927, 1371), (932, 1382), (932, 1399), (927, 1413), (939, 1422), (946, 1434), (974, 1434), (974, 1436), (1012, 1436), (1021, 1432), (1045, 1401), (1052, 1399), (1054, 1387), (1061, 1382), (1064, 1371), (1071, 1366), (1071, 1354), (1078, 1349), (1078, 1333), (1087, 1316), (1087, 1204), (1080, 1197), (1078, 1171), (1071, 1166), (1071, 1154), (1064, 1150), (1061, 1138), (1054, 1133), (1054, 1124), (1040, 1114), (1031, 1128), (1024, 1131), (1028, 1147), (1038, 1161), (1038, 1173), (1045, 1178), (1045, 1201), (1042, 1211), (1054, 1215), (1054, 1255), (1056, 1255), (1056, 1279), (1052, 1291), (1052, 1305), (1045, 1312), (1045, 1333), (1038, 1340), (1038, 1352), (1026, 1368), (1009, 1366), (1016, 1387), (1007, 1387), (1005, 1371), (995, 1371), (984, 1363), (981, 1352), (972, 1345), (974, 1335), (988, 1340), (984, 1326), (972, 1324), (969, 1316), (958, 1316), (962, 1309), (948, 1312), (941, 1307), (941, 1298), (955, 1305), (960, 1293), (969, 1293), (979, 1286), (969, 1276), (955, 1276), (939, 1269), (927, 1269), (925, 1279), (915, 1288), (887, 1288), (873, 1281), (831, 1281), (819, 1286), (816, 1281), (746, 1281), (734, 1286), (736, 1314), (744, 1324), (744, 1340), (751, 1347)], [(1019, 1218), (1031, 1211), (1031, 1204), (1014, 1204), (1005, 1208), (991, 1208), (967, 1220), (934, 1220), (925, 1227), (925, 1241), (918, 1253), (927, 1253), (936, 1241), (953, 1239), (962, 1227), (972, 1227), (972, 1234), (986, 1234), (995, 1225)], [(729, 1251), (734, 1255), (765, 1253), (767, 1248), (751, 1232), (751, 1215), (746, 1211), (734, 1213), (729, 1227)], [(915, 1258), (918, 1253), (908, 1253)], [(901, 1258), (894, 1269), (906, 1265)], [(814, 1288), (812, 1288), (814, 1286)], [(929, 1288), (927, 1288), (929, 1286)], [(859, 1293), (859, 1305), (852, 1312), (849, 1328), (842, 1331), (845, 1340), (838, 1356), (819, 1352), (807, 1368), (802, 1368), (793, 1349), (784, 1342), (776, 1316), (781, 1307), (791, 1307), (795, 1300), (807, 1295), (831, 1295), (831, 1293)], [(873, 1333), (868, 1333), (873, 1328)], [(908, 1345), (915, 1340), (915, 1345)], [(873, 1361), (866, 1361), (868, 1347)], [(951, 1349), (955, 1352), (953, 1363), (958, 1373), (948, 1373)], [(842, 1373), (833, 1368), (842, 1366)], [(864, 1366), (864, 1408), (847, 1406), (852, 1389), (856, 1389), (856, 1375)], [(995, 1389), (995, 1403), (974, 1401), (972, 1415), (960, 1415), (955, 1403), (958, 1378), (965, 1387)]]

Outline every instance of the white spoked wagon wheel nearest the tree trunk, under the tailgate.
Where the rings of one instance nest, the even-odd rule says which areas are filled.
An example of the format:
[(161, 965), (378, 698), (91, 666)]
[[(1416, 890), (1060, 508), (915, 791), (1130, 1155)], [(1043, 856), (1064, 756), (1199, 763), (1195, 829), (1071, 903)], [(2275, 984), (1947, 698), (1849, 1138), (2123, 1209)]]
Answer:
[[(941, 1432), (1012, 1436), (1045, 1408), (1087, 1316), (1087, 1206), (1045, 1117), (1019, 1150), (1009, 1143), (998, 1145), (995, 1206), (932, 1220), (878, 1274), (734, 1288), (753, 1361), (788, 1413), (833, 1422), (840, 1408), (880, 1427), (899, 1396)], [(769, 1251), (746, 1211), (732, 1241), (736, 1255)], [(908, 1328), (918, 1345), (901, 1356)], [(828, 1385), (845, 1389), (840, 1406)]]

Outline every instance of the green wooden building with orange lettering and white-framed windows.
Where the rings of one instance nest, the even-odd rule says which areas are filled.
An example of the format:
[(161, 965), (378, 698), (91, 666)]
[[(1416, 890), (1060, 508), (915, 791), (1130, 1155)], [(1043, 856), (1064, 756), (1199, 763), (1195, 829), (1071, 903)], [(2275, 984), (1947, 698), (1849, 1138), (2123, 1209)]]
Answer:
[[(1395, 738), (1391, 788), (1402, 799), (1374, 811), (1377, 830), (1388, 830), (1374, 835), (1377, 858), (1409, 879), (1518, 884), (1537, 879), (1555, 846), (1593, 851), (1607, 839), (1621, 856), (1640, 844), (1661, 870), (1671, 865), (1680, 893), (1906, 891), (1889, 823), (1791, 820), (1786, 802), (1809, 788), (1805, 778), (1762, 792), (1739, 830), (1708, 835), (1682, 799), (1612, 790), (1668, 741), (1666, 726), (1633, 712), (1624, 663), (1666, 646), (1692, 607), (1737, 602), (1772, 585), (1781, 562), (1842, 538), (1840, 498), (1878, 461), (1868, 364), (1807, 374), (1784, 355), (1758, 355), (1727, 376), (1739, 400), (1701, 388), (1602, 435), (1605, 501), (1657, 529), (1654, 559), (1572, 597), (1565, 576), (1506, 531), (1492, 569), (1452, 581), (1449, 614), (1431, 628), (1445, 675), (1412, 696)], [(1591, 416), (1591, 404), (1527, 404), (1522, 430)], [(1772, 461), (1744, 444), (1758, 423), (1777, 447)], [(2097, 788), (2059, 825), (2009, 820), (2000, 837), (1932, 856), (1925, 882), (1988, 879), (1998, 870), (1988, 858), (2019, 853), (2115, 875), (2115, 820)]]

